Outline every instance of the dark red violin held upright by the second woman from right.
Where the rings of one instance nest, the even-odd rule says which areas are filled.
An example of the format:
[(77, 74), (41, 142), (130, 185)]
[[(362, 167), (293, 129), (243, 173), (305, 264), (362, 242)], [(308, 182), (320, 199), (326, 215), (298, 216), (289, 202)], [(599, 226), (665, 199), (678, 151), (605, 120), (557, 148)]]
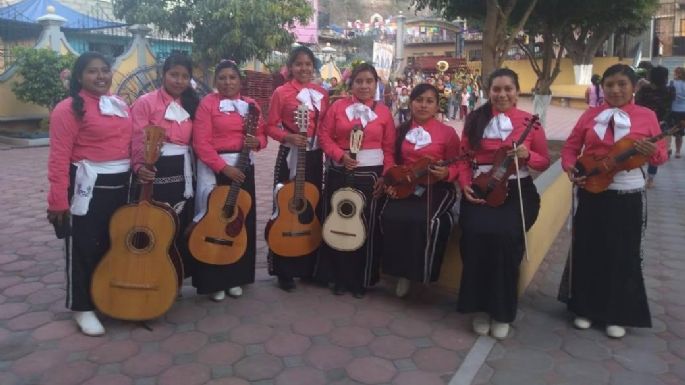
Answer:
[(471, 184), (476, 197), (485, 200), (485, 204), (490, 207), (501, 206), (506, 201), (509, 194), (509, 177), (516, 173), (515, 155), (509, 155), (509, 151), (523, 143), (533, 126), (539, 126), (540, 117), (533, 115), (526, 120), (528, 124), (519, 140), (516, 141), (516, 145), (505, 145), (497, 149), (492, 168), (488, 172), (478, 175)]

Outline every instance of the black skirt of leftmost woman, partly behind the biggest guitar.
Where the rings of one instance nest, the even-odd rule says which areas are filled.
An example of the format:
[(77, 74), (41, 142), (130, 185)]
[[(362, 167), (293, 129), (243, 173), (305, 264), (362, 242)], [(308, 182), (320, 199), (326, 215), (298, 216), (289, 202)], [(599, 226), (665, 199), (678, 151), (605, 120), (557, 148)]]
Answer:
[[(69, 199), (74, 192), (76, 167), (71, 166)], [(100, 174), (86, 215), (71, 215), (71, 234), (66, 244), (66, 306), (73, 311), (95, 309), (90, 295), (93, 272), (109, 250), (109, 221), (126, 204), (130, 173)]]

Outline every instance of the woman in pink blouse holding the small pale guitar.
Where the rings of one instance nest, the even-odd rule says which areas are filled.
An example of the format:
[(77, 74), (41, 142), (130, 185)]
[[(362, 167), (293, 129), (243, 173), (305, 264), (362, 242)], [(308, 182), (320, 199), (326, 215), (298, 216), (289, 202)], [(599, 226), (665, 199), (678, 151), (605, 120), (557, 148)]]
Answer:
[[(383, 173), (390, 168), (395, 144), (395, 123), (388, 107), (373, 100), (379, 81), (376, 69), (359, 64), (350, 75), (352, 96), (336, 101), (321, 123), (321, 148), (328, 159), (323, 204), (331, 210), (331, 195), (346, 187), (346, 172), (354, 172), (354, 188), (366, 197), (366, 241), (356, 251), (337, 251), (323, 243), (319, 249), (316, 276), (334, 284), (335, 294), (346, 290), (361, 298), (365, 288), (378, 281), (380, 244), (377, 242), (379, 200)], [(364, 138), (356, 160), (349, 154), (350, 133), (362, 127)]]

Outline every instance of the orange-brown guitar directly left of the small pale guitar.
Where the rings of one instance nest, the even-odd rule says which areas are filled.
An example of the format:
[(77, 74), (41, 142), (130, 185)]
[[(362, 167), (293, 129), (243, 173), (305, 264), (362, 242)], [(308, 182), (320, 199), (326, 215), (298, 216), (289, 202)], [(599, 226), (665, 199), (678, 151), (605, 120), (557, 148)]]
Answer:
[[(300, 104), (295, 111), (300, 135), (307, 135), (309, 109)], [(278, 184), (274, 191), (276, 210), (266, 224), (264, 235), (269, 248), (284, 257), (300, 257), (321, 244), (321, 223), (316, 216), (319, 190), (304, 180), (306, 149), (298, 147), (295, 180)]]

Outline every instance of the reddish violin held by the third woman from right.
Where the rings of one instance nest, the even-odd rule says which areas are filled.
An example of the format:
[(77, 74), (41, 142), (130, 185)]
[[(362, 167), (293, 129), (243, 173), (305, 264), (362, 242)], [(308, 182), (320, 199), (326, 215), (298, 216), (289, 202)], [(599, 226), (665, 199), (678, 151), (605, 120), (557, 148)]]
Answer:
[(391, 167), (383, 176), (383, 181), (387, 186), (392, 186), (395, 189), (394, 199), (404, 199), (416, 191), (417, 185), (429, 185), (438, 182), (437, 179), (431, 177), (431, 167), (447, 166), (469, 156), (460, 155), (439, 162), (430, 157), (423, 157), (411, 166), (398, 165)]

